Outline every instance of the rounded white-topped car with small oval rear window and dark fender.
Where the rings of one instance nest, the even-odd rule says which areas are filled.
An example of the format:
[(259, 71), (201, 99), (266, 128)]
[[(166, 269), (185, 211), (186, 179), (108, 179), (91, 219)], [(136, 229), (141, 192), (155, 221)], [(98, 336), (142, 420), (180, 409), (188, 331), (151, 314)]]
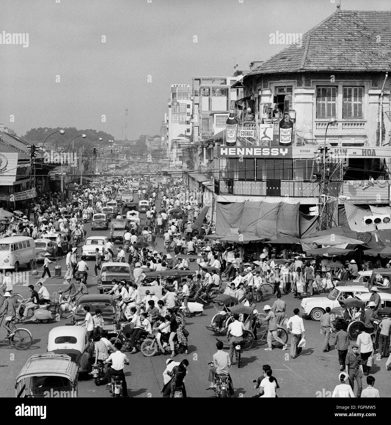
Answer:
[(84, 326), (56, 326), (51, 329), (47, 338), (47, 351), (67, 354), (78, 365), (79, 372), (85, 374), (91, 370), (95, 355), (94, 344), (89, 342)]

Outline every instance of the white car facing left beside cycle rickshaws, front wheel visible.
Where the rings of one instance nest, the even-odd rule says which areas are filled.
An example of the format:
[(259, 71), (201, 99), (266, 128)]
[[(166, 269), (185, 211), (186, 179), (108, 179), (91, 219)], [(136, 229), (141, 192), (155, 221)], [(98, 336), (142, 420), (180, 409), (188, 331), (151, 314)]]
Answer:
[(309, 315), (312, 320), (319, 321), (321, 315), (326, 312), (326, 307), (333, 309), (339, 307), (338, 300), (344, 300), (349, 295), (352, 297), (361, 295), (363, 292), (369, 292), (365, 286), (337, 286), (332, 289), (327, 297), (312, 297), (302, 300), (300, 312), (304, 315)]

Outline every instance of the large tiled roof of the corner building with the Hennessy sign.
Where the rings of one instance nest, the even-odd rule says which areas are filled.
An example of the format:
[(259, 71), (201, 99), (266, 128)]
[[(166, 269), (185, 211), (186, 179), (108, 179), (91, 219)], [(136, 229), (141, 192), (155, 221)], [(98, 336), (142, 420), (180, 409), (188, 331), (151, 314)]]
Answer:
[(337, 10), (303, 34), (301, 45), (289, 45), (247, 76), (314, 70), (390, 69), (391, 11)]

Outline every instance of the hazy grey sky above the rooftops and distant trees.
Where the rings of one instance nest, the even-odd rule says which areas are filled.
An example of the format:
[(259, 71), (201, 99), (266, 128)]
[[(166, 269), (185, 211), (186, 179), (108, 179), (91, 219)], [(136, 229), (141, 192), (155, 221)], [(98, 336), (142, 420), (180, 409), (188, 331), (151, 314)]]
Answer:
[[(232, 75), (236, 64), (248, 70), (281, 50), (269, 34), (304, 34), (338, 3), (149, 1), (0, 0), (0, 34), (29, 34), (27, 48), (0, 45), (0, 122), (18, 135), (71, 126), (121, 139), (128, 108), (129, 139), (160, 134), (170, 84)], [(343, 10), (390, 7), (390, 0), (341, 0)]]

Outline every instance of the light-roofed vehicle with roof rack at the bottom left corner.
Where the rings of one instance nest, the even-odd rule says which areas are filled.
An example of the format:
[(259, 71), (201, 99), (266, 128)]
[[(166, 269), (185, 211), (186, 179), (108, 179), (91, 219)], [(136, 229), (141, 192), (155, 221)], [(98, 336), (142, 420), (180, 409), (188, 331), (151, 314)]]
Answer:
[(36, 354), (15, 380), (15, 397), (77, 397), (78, 373), (66, 354)]

